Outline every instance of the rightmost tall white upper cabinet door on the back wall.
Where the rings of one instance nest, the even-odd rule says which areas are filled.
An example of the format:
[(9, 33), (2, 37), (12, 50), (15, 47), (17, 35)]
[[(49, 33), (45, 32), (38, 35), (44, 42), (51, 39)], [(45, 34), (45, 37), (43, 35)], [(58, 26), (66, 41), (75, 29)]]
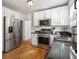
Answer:
[(68, 6), (60, 7), (60, 21), (61, 25), (69, 25)]

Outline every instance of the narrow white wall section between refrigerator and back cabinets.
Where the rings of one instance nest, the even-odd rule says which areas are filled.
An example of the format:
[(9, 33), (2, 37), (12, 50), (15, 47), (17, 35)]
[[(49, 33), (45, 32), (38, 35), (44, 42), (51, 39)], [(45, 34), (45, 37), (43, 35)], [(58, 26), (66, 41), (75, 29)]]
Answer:
[(28, 14), (26, 20), (23, 20), (23, 40), (31, 39), (31, 14)]

